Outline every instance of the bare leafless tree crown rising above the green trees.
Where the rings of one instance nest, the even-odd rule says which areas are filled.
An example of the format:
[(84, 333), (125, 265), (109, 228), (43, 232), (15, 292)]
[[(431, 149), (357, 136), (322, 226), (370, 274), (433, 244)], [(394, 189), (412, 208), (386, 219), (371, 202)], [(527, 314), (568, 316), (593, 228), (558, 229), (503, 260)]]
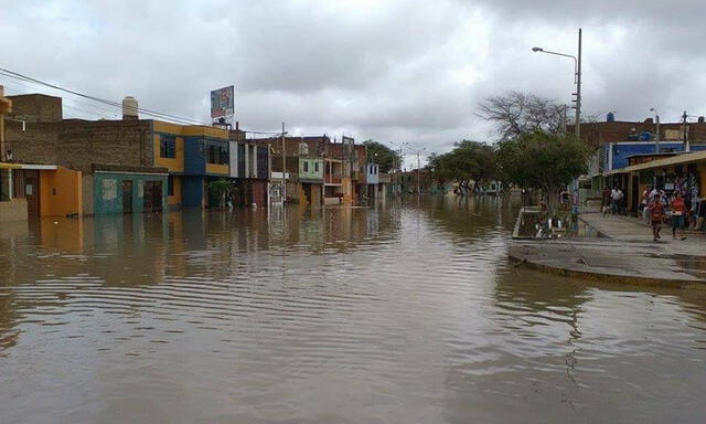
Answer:
[(479, 104), (477, 116), (495, 125), (501, 141), (534, 131), (560, 134), (567, 124), (564, 105), (520, 92), (485, 98)]

